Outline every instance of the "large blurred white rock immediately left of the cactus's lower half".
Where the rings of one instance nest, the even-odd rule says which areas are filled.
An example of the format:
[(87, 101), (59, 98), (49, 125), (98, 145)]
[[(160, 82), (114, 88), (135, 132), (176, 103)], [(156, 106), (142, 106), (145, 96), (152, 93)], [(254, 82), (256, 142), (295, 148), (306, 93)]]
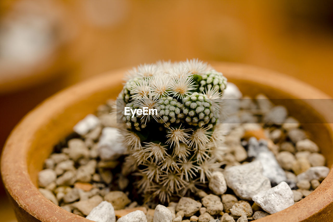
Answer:
[(99, 156), (102, 160), (115, 160), (127, 152), (122, 143), (122, 135), (117, 128), (105, 127), (98, 142)]

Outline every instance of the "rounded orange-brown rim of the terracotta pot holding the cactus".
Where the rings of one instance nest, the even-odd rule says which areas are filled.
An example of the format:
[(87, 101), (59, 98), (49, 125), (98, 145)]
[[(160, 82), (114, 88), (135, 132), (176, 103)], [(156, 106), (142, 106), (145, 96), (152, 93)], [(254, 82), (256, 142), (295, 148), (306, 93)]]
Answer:
[[(210, 64), (217, 71), (222, 71), (226, 77), (230, 75), (233, 79), (266, 85), (284, 91), (295, 98), (332, 99), (320, 90), (278, 72), (237, 63), (211, 62)], [(119, 81), (115, 80), (122, 79), (126, 70), (113, 70), (56, 93), (29, 112), (13, 129), (2, 152), (1, 176), (7, 194), (21, 210), (41, 221), (56, 221), (59, 219), (60, 221), (90, 221), (56, 206), (38, 191), (29, 176), (27, 155), (29, 147), (33, 144), (34, 134), (46, 121), (52, 116), (62, 113), (66, 107), (75, 104), (75, 101), (89, 97), (89, 95), (101, 89), (119, 86)], [(304, 93), (305, 91), (306, 93)], [(330, 107), (333, 107), (332, 103), (328, 104), (327, 109), (325, 109), (326, 113), (323, 110), (316, 109), (316, 111), (324, 119), (328, 119), (327, 111)], [(333, 141), (333, 124), (327, 123), (325, 125), (329, 130), (331, 141)], [(332, 203), (332, 194), (333, 171), (330, 170), (326, 179), (308, 197), (283, 211), (258, 221), (303, 221)]]

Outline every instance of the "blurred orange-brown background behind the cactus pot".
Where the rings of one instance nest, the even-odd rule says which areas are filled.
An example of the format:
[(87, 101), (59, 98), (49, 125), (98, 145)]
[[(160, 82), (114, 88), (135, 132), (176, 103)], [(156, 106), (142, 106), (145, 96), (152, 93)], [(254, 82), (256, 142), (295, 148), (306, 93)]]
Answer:
[[(65, 87), (186, 58), (273, 69), (333, 96), (333, 1), (1, 0), (0, 147)], [(1, 182), (0, 214), (15, 221)]]

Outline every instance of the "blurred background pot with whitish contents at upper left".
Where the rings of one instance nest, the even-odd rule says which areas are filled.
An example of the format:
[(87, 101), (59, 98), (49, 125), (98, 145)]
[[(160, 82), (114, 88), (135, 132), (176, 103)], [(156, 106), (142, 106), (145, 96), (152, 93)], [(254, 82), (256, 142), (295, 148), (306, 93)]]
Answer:
[(56, 1), (2, 3), (0, 93), (50, 79), (73, 60), (68, 57), (75, 26)]

